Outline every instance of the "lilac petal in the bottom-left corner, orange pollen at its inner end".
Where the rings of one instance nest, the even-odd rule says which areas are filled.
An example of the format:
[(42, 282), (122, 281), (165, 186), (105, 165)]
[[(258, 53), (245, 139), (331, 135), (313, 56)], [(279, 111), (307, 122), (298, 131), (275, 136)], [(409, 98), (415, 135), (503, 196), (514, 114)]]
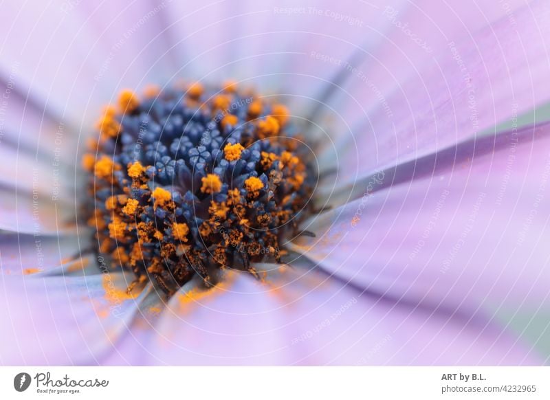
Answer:
[(61, 278), (2, 276), (0, 363), (97, 364), (139, 301), (122, 274)]

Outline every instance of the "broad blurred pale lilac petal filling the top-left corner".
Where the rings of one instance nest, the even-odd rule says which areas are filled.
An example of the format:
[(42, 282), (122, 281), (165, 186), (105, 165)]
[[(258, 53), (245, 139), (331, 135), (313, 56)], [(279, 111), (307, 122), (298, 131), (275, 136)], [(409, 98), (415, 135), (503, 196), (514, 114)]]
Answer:
[(76, 126), (74, 135), (78, 126), (91, 126), (120, 89), (170, 78), (163, 4), (6, 5), (0, 71), (14, 76), (24, 98)]

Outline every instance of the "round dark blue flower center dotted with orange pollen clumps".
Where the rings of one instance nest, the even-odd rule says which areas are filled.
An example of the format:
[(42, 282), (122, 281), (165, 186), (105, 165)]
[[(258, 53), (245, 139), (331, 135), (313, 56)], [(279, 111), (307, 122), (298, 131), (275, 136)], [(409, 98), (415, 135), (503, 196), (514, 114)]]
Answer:
[(235, 85), (146, 92), (105, 109), (83, 156), (98, 253), (168, 294), (280, 262), (316, 179), (287, 108)]

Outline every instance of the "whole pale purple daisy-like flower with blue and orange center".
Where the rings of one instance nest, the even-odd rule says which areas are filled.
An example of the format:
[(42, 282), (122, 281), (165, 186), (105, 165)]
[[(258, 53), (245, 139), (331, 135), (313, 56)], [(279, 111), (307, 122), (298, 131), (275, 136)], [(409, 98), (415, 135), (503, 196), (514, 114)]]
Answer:
[[(550, 125), (542, 107), (550, 100), (550, 19), (543, 1), (7, 7), (3, 364), (548, 362)], [(210, 96), (211, 82), (223, 93)], [(117, 141), (124, 144), (139, 122), (126, 115), (169, 91), (186, 91), (186, 107), (207, 104), (223, 117), (219, 129), (233, 132), (255, 118), (254, 140), (276, 147), (281, 132), (300, 138), (314, 160), (290, 147), (264, 149), (234, 195), (267, 208), (269, 181), (258, 168), (299, 164), (300, 174), (272, 177), (307, 204), (307, 212), (292, 209), (299, 225), (268, 252), (254, 247), (250, 266), (181, 271), (175, 289), (161, 260), (198, 245), (203, 233), (190, 221), (210, 214), (225, 221), (233, 205), (219, 196), (235, 188), (201, 169), (212, 157), (192, 144), (202, 124), (189, 125), (179, 148), (202, 173), (190, 171), (197, 178), (190, 204), (214, 200), (203, 214), (180, 207), (186, 193), (170, 184), (148, 186), (151, 173), (170, 179), (172, 159), (153, 170), (141, 156), (115, 159)], [(224, 115), (247, 91), (254, 101), (241, 107), (250, 106), (250, 115)], [(115, 109), (103, 109), (94, 125), (107, 103)], [(131, 143), (153, 159), (169, 151), (157, 139), (170, 129), (170, 110), (156, 104), (144, 116), (155, 124), (143, 132), (156, 148), (139, 142), (139, 123)], [(219, 148), (220, 163), (248, 156), (247, 143), (228, 144)], [(298, 188), (311, 177), (314, 192), (304, 201), (308, 192)], [(127, 186), (113, 192), (120, 179)], [(124, 193), (132, 185), (145, 196)], [(272, 214), (263, 215), (244, 223), (269, 224)], [(235, 224), (219, 240), (227, 235), (237, 250), (265, 243), (267, 230), (249, 231), (250, 242)], [(101, 234), (109, 241), (99, 243)], [(144, 239), (172, 247), (142, 247)], [(219, 241), (208, 245), (208, 265), (228, 256)]]

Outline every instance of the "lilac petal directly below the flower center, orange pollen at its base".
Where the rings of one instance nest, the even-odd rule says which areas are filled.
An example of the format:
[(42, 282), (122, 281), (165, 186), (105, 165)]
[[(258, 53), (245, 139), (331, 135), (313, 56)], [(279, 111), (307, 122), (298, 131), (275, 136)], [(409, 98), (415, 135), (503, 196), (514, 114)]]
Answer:
[[(230, 274), (213, 291), (175, 295), (146, 348), (154, 364), (291, 364), (286, 321), (274, 296), (248, 277)], [(266, 296), (267, 295), (267, 296)]]

